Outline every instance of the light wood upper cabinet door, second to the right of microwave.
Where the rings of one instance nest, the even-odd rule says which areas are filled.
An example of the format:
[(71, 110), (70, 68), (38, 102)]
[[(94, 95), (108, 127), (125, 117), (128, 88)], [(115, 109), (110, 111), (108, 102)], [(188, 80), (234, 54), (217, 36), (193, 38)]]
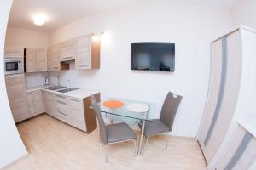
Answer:
[(36, 49), (36, 71), (47, 71), (47, 49)]

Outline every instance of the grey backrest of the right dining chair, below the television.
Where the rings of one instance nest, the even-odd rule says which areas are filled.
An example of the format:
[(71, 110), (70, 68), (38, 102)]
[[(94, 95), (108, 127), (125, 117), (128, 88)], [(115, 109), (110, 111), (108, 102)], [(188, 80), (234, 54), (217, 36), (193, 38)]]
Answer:
[(164, 122), (166, 126), (169, 127), (170, 131), (172, 131), (174, 117), (176, 116), (177, 108), (182, 99), (182, 96), (174, 96), (171, 92), (166, 95), (166, 100), (160, 113), (160, 121)]

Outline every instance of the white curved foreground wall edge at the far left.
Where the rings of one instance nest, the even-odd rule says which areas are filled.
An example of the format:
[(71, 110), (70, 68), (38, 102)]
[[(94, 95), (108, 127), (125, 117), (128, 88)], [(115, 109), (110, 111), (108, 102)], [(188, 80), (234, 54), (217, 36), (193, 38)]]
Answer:
[[(12, 0), (0, 1), (0, 65), (3, 65), (5, 31), (11, 4)], [(0, 70), (0, 82), (0, 168), (2, 168), (17, 160), (20, 156), (25, 156), (27, 152), (15, 127), (15, 122), (9, 108), (3, 69)]]

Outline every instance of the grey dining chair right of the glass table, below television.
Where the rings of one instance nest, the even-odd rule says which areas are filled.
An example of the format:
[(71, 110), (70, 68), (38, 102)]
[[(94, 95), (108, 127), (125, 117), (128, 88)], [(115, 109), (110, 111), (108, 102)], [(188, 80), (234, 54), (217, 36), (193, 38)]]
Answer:
[[(152, 121), (145, 122), (144, 127), (144, 137), (146, 137), (146, 143), (143, 146), (143, 153), (148, 144), (148, 139), (151, 136), (166, 133), (166, 150), (168, 148), (169, 142), (169, 132), (172, 131), (172, 125), (174, 122), (174, 117), (177, 113), (177, 108), (183, 99), (180, 95), (174, 95), (173, 93), (169, 92), (166, 95), (166, 99), (164, 104), (162, 105), (161, 112), (160, 112), (160, 119), (153, 119)], [(138, 123), (138, 126), (142, 128), (142, 124)]]

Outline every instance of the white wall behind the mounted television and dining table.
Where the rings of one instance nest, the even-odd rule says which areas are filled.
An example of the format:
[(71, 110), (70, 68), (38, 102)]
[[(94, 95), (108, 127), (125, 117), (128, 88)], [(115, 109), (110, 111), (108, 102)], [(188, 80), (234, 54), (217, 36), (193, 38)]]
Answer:
[[(199, 4), (149, 3), (73, 21), (50, 34), (54, 44), (90, 32), (102, 40), (99, 71), (61, 71), (61, 83), (98, 88), (106, 96), (150, 101), (155, 117), (168, 91), (183, 95), (172, 134), (195, 137), (204, 111), (211, 41), (232, 26), (230, 14)], [(131, 42), (175, 42), (176, 71), (131, 71)], [(50, 73), (56, 75), (58, 73)]]

